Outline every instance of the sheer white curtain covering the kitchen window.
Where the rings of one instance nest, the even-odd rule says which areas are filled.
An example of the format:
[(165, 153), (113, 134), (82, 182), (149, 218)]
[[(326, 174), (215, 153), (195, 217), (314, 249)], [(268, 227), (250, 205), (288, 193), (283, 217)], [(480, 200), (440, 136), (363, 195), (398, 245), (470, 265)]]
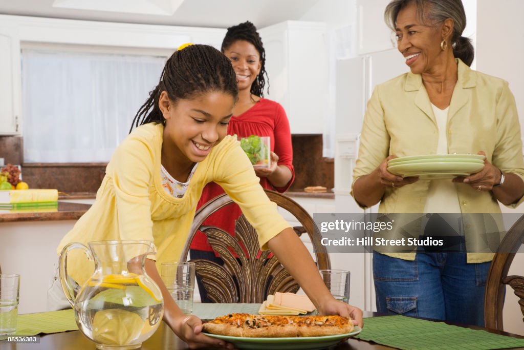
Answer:
[(23, 50), (24, 162), (108, 162), (165, 60)]

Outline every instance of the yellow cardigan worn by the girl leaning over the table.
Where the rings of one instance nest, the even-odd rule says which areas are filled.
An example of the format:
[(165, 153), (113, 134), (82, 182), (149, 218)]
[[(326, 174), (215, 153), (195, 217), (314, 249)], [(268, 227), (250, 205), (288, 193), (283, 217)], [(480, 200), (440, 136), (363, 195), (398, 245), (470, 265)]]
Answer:
[[(242, 208), (257, 230), (260, 247), (290, 225), (259, 185), (253, 166), (239, 142), (226, 136), (199, 163), (182, 198), (168, 195), (160, 181), (162, 124), (136, 128), (115, 150), (106, 168), (93, 206), (64, 236), (57, 252), (70, 242), (84, 245), (97, 240), (139, 239), (154, 242), (157, 268), (161, 262), (178, 261), (202, 189), (216, 182)], [(68, 271), (82, 283), (93, 273), (92, 264), (79, 249), (68, 258)]]

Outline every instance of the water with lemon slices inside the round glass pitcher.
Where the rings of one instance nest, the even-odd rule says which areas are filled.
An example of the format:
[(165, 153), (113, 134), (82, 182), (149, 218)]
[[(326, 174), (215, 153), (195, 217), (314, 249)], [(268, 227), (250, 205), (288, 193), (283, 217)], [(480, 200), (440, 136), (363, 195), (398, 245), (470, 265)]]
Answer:
[(155, 332), (162, 318), (162, 301), (144, 285), (143, 278), (112, 275), (90, 284), (89, 298), (75, 303), (75, 312), (81, 331), (98, 348), (136, 348)]

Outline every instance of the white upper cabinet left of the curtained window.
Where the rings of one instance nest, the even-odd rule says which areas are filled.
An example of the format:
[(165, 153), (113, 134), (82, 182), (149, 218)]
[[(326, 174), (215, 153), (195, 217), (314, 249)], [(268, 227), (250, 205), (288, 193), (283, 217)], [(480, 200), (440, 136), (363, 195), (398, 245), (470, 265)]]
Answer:
[(20, 134), (20, 105), (18, 28), (0, 25), (0, 135)]

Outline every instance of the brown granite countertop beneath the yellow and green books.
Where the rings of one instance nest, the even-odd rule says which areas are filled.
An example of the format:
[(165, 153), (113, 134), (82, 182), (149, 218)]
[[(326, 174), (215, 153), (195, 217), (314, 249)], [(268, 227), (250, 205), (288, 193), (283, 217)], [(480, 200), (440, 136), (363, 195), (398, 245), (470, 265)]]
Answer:
[(53, 211), (0, 210), (0, 222), (78, 220), (90, 207), (90, 204), (58, 201), (58, 208)]

